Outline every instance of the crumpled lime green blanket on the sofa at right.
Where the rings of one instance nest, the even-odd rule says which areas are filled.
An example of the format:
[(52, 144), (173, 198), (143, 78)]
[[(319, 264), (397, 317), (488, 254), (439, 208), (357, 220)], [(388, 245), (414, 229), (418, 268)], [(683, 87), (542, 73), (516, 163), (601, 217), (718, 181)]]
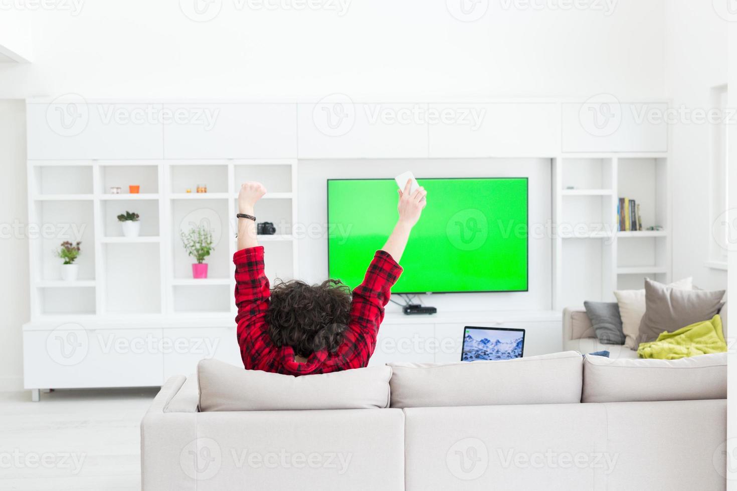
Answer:
[(696, 322), (672, 333), (663, 332), (653, 342), (640, 343), (640, 358), (660, 358), (675, 360), (707, 353), (724, 353), (727, 342), (722, 332), (722, 319), (719, 314), (711, 320)]

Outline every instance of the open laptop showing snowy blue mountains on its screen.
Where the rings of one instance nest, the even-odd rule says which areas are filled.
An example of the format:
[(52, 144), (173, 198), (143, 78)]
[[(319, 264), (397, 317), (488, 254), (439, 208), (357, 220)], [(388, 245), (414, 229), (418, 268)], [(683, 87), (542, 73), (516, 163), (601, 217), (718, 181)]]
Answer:
[(522, 358), (525, 330), (466, 326), (461, 361)]

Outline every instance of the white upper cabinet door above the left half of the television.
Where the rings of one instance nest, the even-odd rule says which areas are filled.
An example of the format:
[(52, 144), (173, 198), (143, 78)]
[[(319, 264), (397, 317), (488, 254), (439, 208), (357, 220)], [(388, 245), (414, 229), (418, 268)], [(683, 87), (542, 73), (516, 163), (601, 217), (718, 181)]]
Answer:
[(298, 105), (299, 158), (427, 158), (426, 104)]

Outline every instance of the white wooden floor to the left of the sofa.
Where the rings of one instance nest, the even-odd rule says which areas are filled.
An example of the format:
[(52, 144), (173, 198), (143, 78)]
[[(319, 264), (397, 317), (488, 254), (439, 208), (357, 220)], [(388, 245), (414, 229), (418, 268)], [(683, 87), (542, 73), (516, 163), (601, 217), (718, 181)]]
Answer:
[(139, 425), (156, 392), (0, 393), (0, 490), (140, 490)]

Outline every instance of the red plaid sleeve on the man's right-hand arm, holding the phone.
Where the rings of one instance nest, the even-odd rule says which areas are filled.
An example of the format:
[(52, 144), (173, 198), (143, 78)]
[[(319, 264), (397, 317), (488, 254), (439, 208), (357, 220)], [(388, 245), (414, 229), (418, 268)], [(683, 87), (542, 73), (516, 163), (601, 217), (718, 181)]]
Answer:
[(350, 321), (343, 345), (326, 363), (334, 365), (330, 371), (366, 367), (376, 348), (376, 336), (384, 319), (384, 306), (391, 297), (391, 287), (401, 274), (402, 266), (388, 252), (377, 250), (363, 283), (353, 290)]

